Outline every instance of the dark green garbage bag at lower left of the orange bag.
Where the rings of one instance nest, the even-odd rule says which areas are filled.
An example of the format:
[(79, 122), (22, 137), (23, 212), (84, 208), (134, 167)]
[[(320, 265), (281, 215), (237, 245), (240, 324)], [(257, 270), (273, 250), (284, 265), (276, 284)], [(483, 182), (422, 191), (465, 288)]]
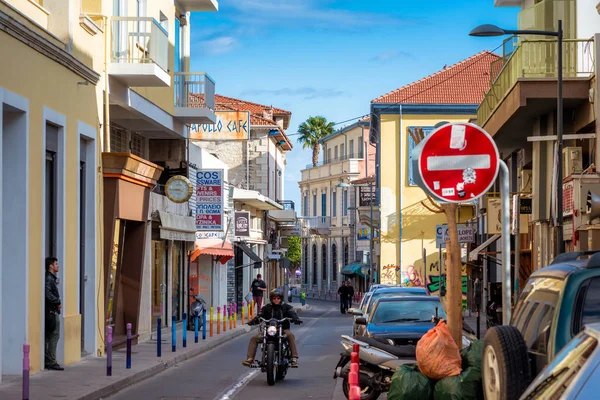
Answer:
[(430, 400), (433, 381), (423, 375), (416, 365), (398, 367), (388, 392), (388, 400)]

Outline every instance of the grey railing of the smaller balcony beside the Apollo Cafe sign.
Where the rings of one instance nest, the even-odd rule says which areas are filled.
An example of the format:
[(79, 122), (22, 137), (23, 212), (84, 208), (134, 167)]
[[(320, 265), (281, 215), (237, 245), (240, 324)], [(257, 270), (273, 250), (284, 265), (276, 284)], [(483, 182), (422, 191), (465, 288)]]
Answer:
[(205, 72), (175, 72), (175, 107), (215, 109), (215, 81)]

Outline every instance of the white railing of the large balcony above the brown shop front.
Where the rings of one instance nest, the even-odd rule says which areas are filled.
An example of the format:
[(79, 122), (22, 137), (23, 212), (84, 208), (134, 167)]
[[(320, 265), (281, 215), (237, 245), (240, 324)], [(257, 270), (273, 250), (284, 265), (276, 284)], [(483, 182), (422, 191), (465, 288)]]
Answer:
[(169, 33), (154, 18), (112, 17), (113, 63), (154, 63), (169, 70)]

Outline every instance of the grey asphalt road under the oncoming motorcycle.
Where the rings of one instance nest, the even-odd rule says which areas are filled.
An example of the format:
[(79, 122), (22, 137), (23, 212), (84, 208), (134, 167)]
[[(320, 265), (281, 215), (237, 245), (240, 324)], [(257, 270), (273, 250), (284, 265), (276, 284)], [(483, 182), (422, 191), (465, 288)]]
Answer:
[(341, 352), (340, 335), (351, 333), (352, 316), (340, 314), (335, 302), (311, 299), (308, 304), (311, 309), (299, 313), (304, 324), (292, 327), (298, 341), (299, 368), (289, 370), (275, 386), (267, 385), (266, 375), (260, 370), (241, 365), (248, 348), (248, 334), (110, 399), (345, 399), (341, 380), (333, 379), (333, 369)]

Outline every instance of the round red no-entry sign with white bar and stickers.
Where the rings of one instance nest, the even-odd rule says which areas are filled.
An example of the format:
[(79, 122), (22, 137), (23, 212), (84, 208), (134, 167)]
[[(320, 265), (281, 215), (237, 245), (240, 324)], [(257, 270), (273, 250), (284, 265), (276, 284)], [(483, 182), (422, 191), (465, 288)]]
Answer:
[(448, 203), (472, 201), (496, 181), (500, 155), (492, 137), (470, 123), (441, 126), (423, 140), (419, 175), (424, 189)]

